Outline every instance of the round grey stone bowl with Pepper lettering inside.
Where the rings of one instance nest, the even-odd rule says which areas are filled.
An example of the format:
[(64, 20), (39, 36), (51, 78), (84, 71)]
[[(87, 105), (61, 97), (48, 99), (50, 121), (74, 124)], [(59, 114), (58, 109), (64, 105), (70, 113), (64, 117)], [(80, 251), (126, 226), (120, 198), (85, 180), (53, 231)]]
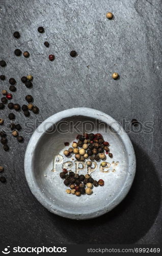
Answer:
[[(64, 142), (71, 146), (77, 134), (85, 131), (100, 132), (109, 141), (113, 154), (113, 158), (106, 155), (109, 168), (101, 169), (99, 161), (92, 172), (75, 163), (74, 155), (63, 155), (69, 148)], [(74, 172), (75, 164), (84, 167), (77, 172), (92, 172), (93, 179), (104, 180), (104, 186), (94, 187), (91, 195), (67, 194), (68, 187), (59, 175), (63, 163)], [(24, 169), (33, 195), (44, 207), (62, 217), (83, 220), (103, 215), (123, 200), (133, 182), (136, 157), (128, 135), (112, 117), (94, 109), (74, 108), (52, 115), (39, 125), (26, 148)]]

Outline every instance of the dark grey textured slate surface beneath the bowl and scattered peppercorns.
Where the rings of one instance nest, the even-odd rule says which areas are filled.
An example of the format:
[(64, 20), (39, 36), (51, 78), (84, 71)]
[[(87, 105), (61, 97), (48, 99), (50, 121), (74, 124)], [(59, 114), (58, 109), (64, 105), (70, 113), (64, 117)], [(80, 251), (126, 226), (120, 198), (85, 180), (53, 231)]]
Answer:
[[(101, 110), (118, 121), (152, 121), (154, 132), (130, 133), (137, 156), (137, 175), (130, 193), (112, 212), (90, 221), (72, 221), (52, 215), (41, 206), (25, 181), (23, 158), (31, 133), (20, 132), (24, 143), (8, 136), (10, 151), (0, 147), (6, 184), (0, 184), (0, 238), (3, 243), (156, 244), (161, 241), (161, 1), (160, 0), (2, 0), (0, 3), (0, 67), (9, 87), (17, 81), (12, 102), (34, 97), (40, 113), (29, 118), (22, 111), (16, 121), (43, 121), (71, 107)], [(114, 13), (108, 20), (105, 13)], [(43, 26), (44, 34), (37, 28)], [(13, 32), (18, 30), (20, 39)], [(46, 48), (43, 42), (49, 41)], [(29, 51), (30, 58), (14, 50)], [(71, 58), (69, 52), (78, 56)], [(55, 54), (53, 62), (49, 54)], [(87, 67), (89, 65), (89, 68)], [(113, 72), (120, 79), (111, 78)], [(33, 88), (21, 83), (34, 76)], [(9, 109), (1, 110), (5, 124)], [(36, 120), (38, 119), (38, 120)], [(33, 124), (34, 125), (34, 124)], [(2, 176), (2, 175), (1, 175)]]

